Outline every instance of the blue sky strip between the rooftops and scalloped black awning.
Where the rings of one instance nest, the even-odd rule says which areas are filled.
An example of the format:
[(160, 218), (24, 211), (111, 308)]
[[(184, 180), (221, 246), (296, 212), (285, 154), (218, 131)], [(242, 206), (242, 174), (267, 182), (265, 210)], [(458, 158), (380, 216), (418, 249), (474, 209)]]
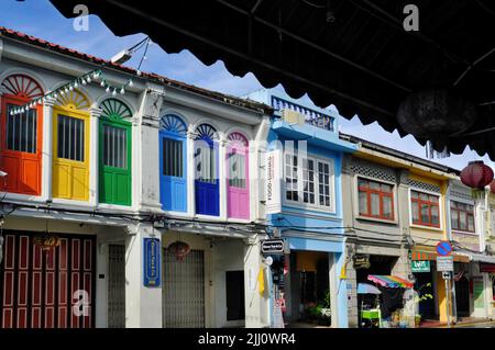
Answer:
[[(47, 0), (0, 0), (0, 2), (1, 26), (102, 58), (111, 58), (121, 49), (128, 48), (145, 37), (143, 34), (125, 37), (114, 36), (95, 15), (89, 16), (89, 31), (77, 32), (73, 27), (73, 20), (65, 19)], [(136, 67), (139, 58), (134, 57), (125, 65)], [(252, 74), (244, 77), (234, 77), (228, 72), (221, 61), (207, 67), (188, 50), (183, 50), (179, 54), (167, 54), (158, 45), (150, 47), (142, 70), (153, 71), (172, 79), (233, 95), (243, 95), (263, 88)], [(276, 89), (283, 88), (279, 86)], [(339, 106), (337, 105), (337, 108)], [(411, 136), (400, 138), (397, 132), (385, 132), (376, 123), (363, 126), (356, 116), (351, 121), (342, 118), (340, 124), (343, 133), (425, 158), (425, 148), (416, 143)], [(480, 157), (469, 148), (464, 150), (463, 155), (452, 155), (449, 158), (435, 159), (433, 161), (462, 169), (469, 161), (479, 159), (483, 159), (494, 168), (494, 163), (487, 156)]]

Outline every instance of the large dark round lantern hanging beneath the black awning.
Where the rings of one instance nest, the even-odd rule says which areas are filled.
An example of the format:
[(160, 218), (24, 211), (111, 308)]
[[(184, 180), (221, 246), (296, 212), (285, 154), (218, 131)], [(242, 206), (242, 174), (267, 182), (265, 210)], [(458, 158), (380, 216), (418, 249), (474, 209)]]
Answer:
[(469, 129), (476, 121), (473, 103), (447, 89), (427, 89), (409, 94), (399, 105), (397, 122), (413, 136), (430, 140), (443, 151), (449, 136)]

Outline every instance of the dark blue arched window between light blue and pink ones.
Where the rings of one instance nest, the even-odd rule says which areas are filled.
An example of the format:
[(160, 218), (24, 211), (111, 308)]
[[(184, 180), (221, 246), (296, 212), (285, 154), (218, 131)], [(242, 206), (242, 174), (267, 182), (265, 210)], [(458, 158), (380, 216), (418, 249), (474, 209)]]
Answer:
[(220, 215), (218, 177), (218, 133), (209, 124), (196, 128), (195, 138), (195, 199), (196, 213)]

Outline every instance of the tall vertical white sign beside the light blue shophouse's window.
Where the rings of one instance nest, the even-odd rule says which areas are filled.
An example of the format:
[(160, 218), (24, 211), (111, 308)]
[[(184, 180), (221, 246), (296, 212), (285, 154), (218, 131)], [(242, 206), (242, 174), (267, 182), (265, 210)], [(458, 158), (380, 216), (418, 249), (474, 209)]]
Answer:
[(266, 154), (265, 178), (266, 178), (266, 214), (282, 212), (280, 196), (280, 150), (274, 149)]

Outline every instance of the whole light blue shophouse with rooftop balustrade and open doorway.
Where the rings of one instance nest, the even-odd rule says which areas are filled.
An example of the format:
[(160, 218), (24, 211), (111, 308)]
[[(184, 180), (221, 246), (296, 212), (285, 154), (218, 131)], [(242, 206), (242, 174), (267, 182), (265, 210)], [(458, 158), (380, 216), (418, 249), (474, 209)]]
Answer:
[[(288, 321), (305, 320), (316, 305), (330, 308), (331, 324), (348, 326), (341, 168), (358, 145), (339, 139), (339, 114), (309, 100), (260, 90), (249, 99), (272, 105), (267, 137), (266, 213), (287, 253), (273, 264), (274, 303)], [(279, 180), (276, 180), (279, 179)], [(284, 303), (285, 302), (285, 303)]]

